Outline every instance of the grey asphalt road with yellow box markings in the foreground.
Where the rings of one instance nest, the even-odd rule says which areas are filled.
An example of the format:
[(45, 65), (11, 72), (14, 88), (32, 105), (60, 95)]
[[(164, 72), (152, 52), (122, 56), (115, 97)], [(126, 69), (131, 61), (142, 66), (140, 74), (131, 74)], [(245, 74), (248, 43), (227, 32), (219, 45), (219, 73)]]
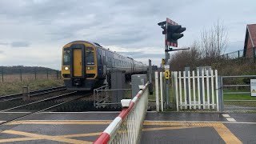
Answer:
[[(5, 122), (26, 113), (0, 113)], [(118, 112), (41, 113), (0, 126), (0, 143), (91, 143)], [(146, 114), (141, 143), (256, 143), (256, 114)]]

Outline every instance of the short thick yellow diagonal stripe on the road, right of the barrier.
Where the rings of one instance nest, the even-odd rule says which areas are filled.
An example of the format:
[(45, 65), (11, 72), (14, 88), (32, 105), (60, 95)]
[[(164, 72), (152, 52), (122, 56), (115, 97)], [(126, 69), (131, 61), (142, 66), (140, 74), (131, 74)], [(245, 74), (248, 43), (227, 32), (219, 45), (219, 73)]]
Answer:
[(222, 137), (226, 143), (242, 143), (226, 126), (219, 123), (218, 126), (214, 126), (214, 129)]

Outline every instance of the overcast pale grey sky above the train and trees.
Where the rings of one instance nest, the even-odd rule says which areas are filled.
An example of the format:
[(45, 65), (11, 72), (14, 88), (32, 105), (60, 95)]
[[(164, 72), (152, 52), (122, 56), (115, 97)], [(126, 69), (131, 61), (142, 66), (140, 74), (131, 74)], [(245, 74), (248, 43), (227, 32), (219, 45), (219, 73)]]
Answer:
[(61, 67), (62, 46), (98, 42), (138, 61), (159, 65), (167, 18), (186, 27), (178, 46), (190, 46), (218, 19), (229, 34), (227, 52), (242, 50), (246, 24), (256, 23), (256, 1), (234, 0), (1, 0), (0, 66)]

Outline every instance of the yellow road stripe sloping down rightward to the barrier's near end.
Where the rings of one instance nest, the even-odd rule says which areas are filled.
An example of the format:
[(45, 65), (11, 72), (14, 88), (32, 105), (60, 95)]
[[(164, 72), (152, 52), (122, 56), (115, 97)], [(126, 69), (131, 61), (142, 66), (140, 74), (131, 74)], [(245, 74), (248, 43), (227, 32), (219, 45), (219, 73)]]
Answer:
[(76, 140), (76, 139), (59, 138), (57, 136), (49, 136), (49, 135), (44, 135), (44, 134), (32, 134), (32, 133), (26, 133), (26, 132), (15, 131), (15, 130), (5, 130), (2, 133), (22, 135), (22, 136), (31, 137), (31, 138), (41, 138), (41, 139), (46, 139), (46, 140), (51, 140), (51, 141), (58, 141), (58, 142), (67, 142), (67, 143), (85, 143), (86, 142), (86, 143), (92, 143), (92, 142), (81, 141), (81, 140)]

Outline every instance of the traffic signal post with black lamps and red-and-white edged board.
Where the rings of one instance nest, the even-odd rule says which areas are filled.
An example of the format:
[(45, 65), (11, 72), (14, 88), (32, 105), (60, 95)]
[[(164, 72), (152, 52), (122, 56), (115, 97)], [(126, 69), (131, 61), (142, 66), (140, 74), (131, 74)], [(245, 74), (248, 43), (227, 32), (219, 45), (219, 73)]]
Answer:
[[(166, 86), (166, 103), (165, 103), (165, 108), (169, 108), (170, 107), (170, 78), (169, 78), (169, 74), (170, 74), (170, 62), (168, 61), (170, 59), (170, 55), (168, 54), (169, 51), (174, 51), (174, 50), (189, 50), (188, 49), (173, 49), (170, 46), (173, 47), (178, 47), (178, 39), (183, 37), (183, 34), (181, 34), (183, 31), (186, 30), (186, 27), (182, 27), (180, 25), (178, 25), (178, 23), (170, 20), (170, 18), (166, 18), (166, 21), (164, 22), (159, 22), (158, 26), (161, 26), (162, 30), (162, 34), (165, 34), (165, 61), (164, 61), (164, 65), (165, 65), (165, 74), (166, 75), (166, 82), (165, 82), (165, 86)], [(163, 62), (163, 60), (162, 60)]]

